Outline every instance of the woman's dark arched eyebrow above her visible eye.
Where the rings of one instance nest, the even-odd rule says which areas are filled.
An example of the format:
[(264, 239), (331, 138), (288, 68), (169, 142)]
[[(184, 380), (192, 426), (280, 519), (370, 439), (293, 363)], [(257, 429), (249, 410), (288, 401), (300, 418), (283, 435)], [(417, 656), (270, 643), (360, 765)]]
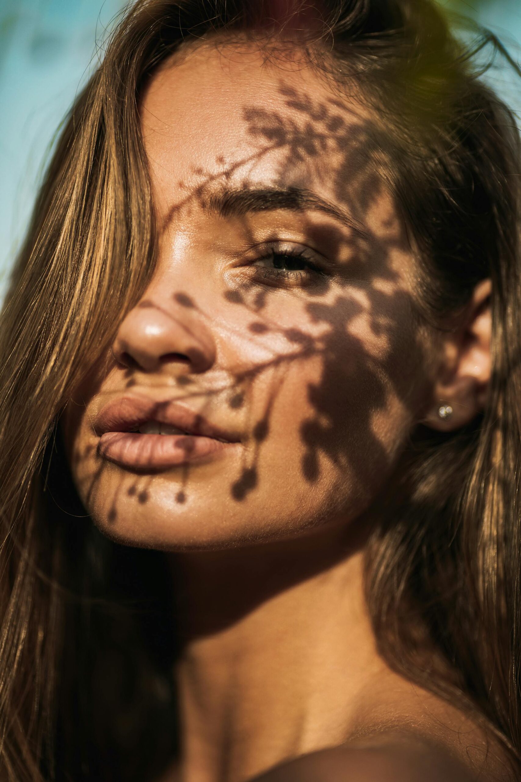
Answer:
[(305, 188), (223, 188), (209, 195), (203, 208), (221, 217), (241, 217), (252, 212), (277, 209), (293, 212), (317, 210), (334, 217), (363, 239), (369, 239), (369, 233), (362, 223), (334, 203)]

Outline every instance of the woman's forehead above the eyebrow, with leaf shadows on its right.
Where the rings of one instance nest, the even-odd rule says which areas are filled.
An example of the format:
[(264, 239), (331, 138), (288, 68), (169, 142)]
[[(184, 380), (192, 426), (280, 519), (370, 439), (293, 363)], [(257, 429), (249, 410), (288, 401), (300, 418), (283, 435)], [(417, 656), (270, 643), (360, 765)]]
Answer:
[(266, 63), (258, 48), (174, 58), (148, 84), (141, 122), (160, 212), (210, 184), (352, 202), (350, 183), (374, 168), (369, 111), (338, 99), (312, 66)]

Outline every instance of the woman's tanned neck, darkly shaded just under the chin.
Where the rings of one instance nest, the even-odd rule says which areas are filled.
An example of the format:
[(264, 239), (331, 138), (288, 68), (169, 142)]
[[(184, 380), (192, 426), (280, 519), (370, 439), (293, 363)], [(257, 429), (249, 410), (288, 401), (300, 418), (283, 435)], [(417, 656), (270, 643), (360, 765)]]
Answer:
[(183, 782), (239, 782), (341, 744), (375, 688), (398, 680), (377, 655), (366, 612), (364, 543), (354, 530), (327, 529), (170, 555)]

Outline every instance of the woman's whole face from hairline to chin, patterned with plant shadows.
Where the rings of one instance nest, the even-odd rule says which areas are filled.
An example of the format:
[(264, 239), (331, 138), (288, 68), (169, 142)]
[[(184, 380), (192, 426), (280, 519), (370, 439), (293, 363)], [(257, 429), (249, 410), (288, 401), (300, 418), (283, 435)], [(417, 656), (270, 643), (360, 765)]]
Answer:
[[(157, 267), (62, 419), (87, 511), (171, 550), (350, 522), (430, 394), (369, 112), (302, 63), (204, 46), (141, 121)], [(144, 421), (195, 434), (125, 431)]]

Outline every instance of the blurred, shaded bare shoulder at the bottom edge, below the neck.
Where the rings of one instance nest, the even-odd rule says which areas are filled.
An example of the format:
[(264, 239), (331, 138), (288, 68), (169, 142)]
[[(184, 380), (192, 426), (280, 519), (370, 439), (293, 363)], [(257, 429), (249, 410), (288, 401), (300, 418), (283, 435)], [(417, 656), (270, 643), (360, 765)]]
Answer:
[(441, 746), (397, 738), (302, 755), (251, 782), (476, 782), (476, 774)]

